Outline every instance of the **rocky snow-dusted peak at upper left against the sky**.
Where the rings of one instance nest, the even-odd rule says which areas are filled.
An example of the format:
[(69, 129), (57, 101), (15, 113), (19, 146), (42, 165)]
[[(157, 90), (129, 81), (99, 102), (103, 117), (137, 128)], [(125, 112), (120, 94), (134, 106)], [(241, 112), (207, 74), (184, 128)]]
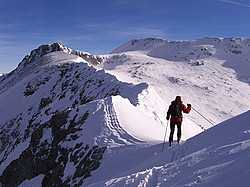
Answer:
[[(61, 53), (51, 55), (52, 52)], [(71, 57), (66, 54), (71, 54)], [(98, 64), (103, 61), (102, 57), (73, 50), (60, 43), (42, 45), (31, 51), (30, 55), (26, 55), (15, 70), (0, 77), (0, 93), (13, 86), (16, 82), (19, 82), (30, 73), (36, 71), (37, 68), (39, 69), (40, 66), (50, 64), (51, 62), (58, 63), (58, 61), (61, 61), (59, 64), (72, 63), (72, 59), (74, 59), (73, 62), (84, 61), (90, 64)]]

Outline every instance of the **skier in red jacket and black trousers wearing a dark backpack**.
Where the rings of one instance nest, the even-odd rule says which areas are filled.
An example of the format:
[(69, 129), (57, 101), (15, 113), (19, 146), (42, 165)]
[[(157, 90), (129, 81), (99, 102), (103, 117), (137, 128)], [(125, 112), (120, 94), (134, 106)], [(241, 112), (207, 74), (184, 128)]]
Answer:
[[(176, 96), (175, 100), (171, 102), (167, 112), (167, 120), (170, 119), (170, 135), (169, 135), (169, 147), (173, 145), (173, 136), (175, 125), (177, 126), (177, 141), (180, 143), (181, 140), (181, 123), (182, 123), (182, 112), (189, 113), (191, 111), (191, 104), (187, 104), (186, 107), (182, 104), (181, 96)], [(170, 118), (171, 117), (171, 118)]]

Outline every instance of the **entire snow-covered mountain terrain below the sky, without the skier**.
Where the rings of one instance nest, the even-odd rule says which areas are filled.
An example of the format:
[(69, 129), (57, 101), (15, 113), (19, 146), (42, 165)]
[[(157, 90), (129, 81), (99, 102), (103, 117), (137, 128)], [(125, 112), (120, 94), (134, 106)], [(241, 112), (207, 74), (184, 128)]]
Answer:
[[(248, 38), (41, 46), (0, 77), (0, 185), (249, 186), (249, 54)], [(169, 148), (176, 95), (193, 110)]]

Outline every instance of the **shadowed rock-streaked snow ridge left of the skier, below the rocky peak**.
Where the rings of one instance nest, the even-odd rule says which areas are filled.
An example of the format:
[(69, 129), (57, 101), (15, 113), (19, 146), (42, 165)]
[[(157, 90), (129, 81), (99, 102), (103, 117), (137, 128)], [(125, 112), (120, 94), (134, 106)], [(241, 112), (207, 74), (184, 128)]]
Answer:
[[(136, 133), (133, 136), (133, 129), (126, 130), (112, 98), (119, 95), (117, 102), (126, 100), (126, 106), (147, 121), (151, 117), (137, 109), (138, 95), (148, 89), (146, 83), (120, 82), (79, 56), (62, 51), (37, 57), (32, 64), (36, 66), (26, 65), (30, 71), (25, 76), (12, 73), (1, 82), (3, 185), (18, 186), (37, 175), (43, 177), (43, 185), (81, 185), (99, 168), (106, 149), (147, 141)], [(12, 82), (13, 77), (18, 81)], [(156, 127), (159, 132), (163, 128)]]

